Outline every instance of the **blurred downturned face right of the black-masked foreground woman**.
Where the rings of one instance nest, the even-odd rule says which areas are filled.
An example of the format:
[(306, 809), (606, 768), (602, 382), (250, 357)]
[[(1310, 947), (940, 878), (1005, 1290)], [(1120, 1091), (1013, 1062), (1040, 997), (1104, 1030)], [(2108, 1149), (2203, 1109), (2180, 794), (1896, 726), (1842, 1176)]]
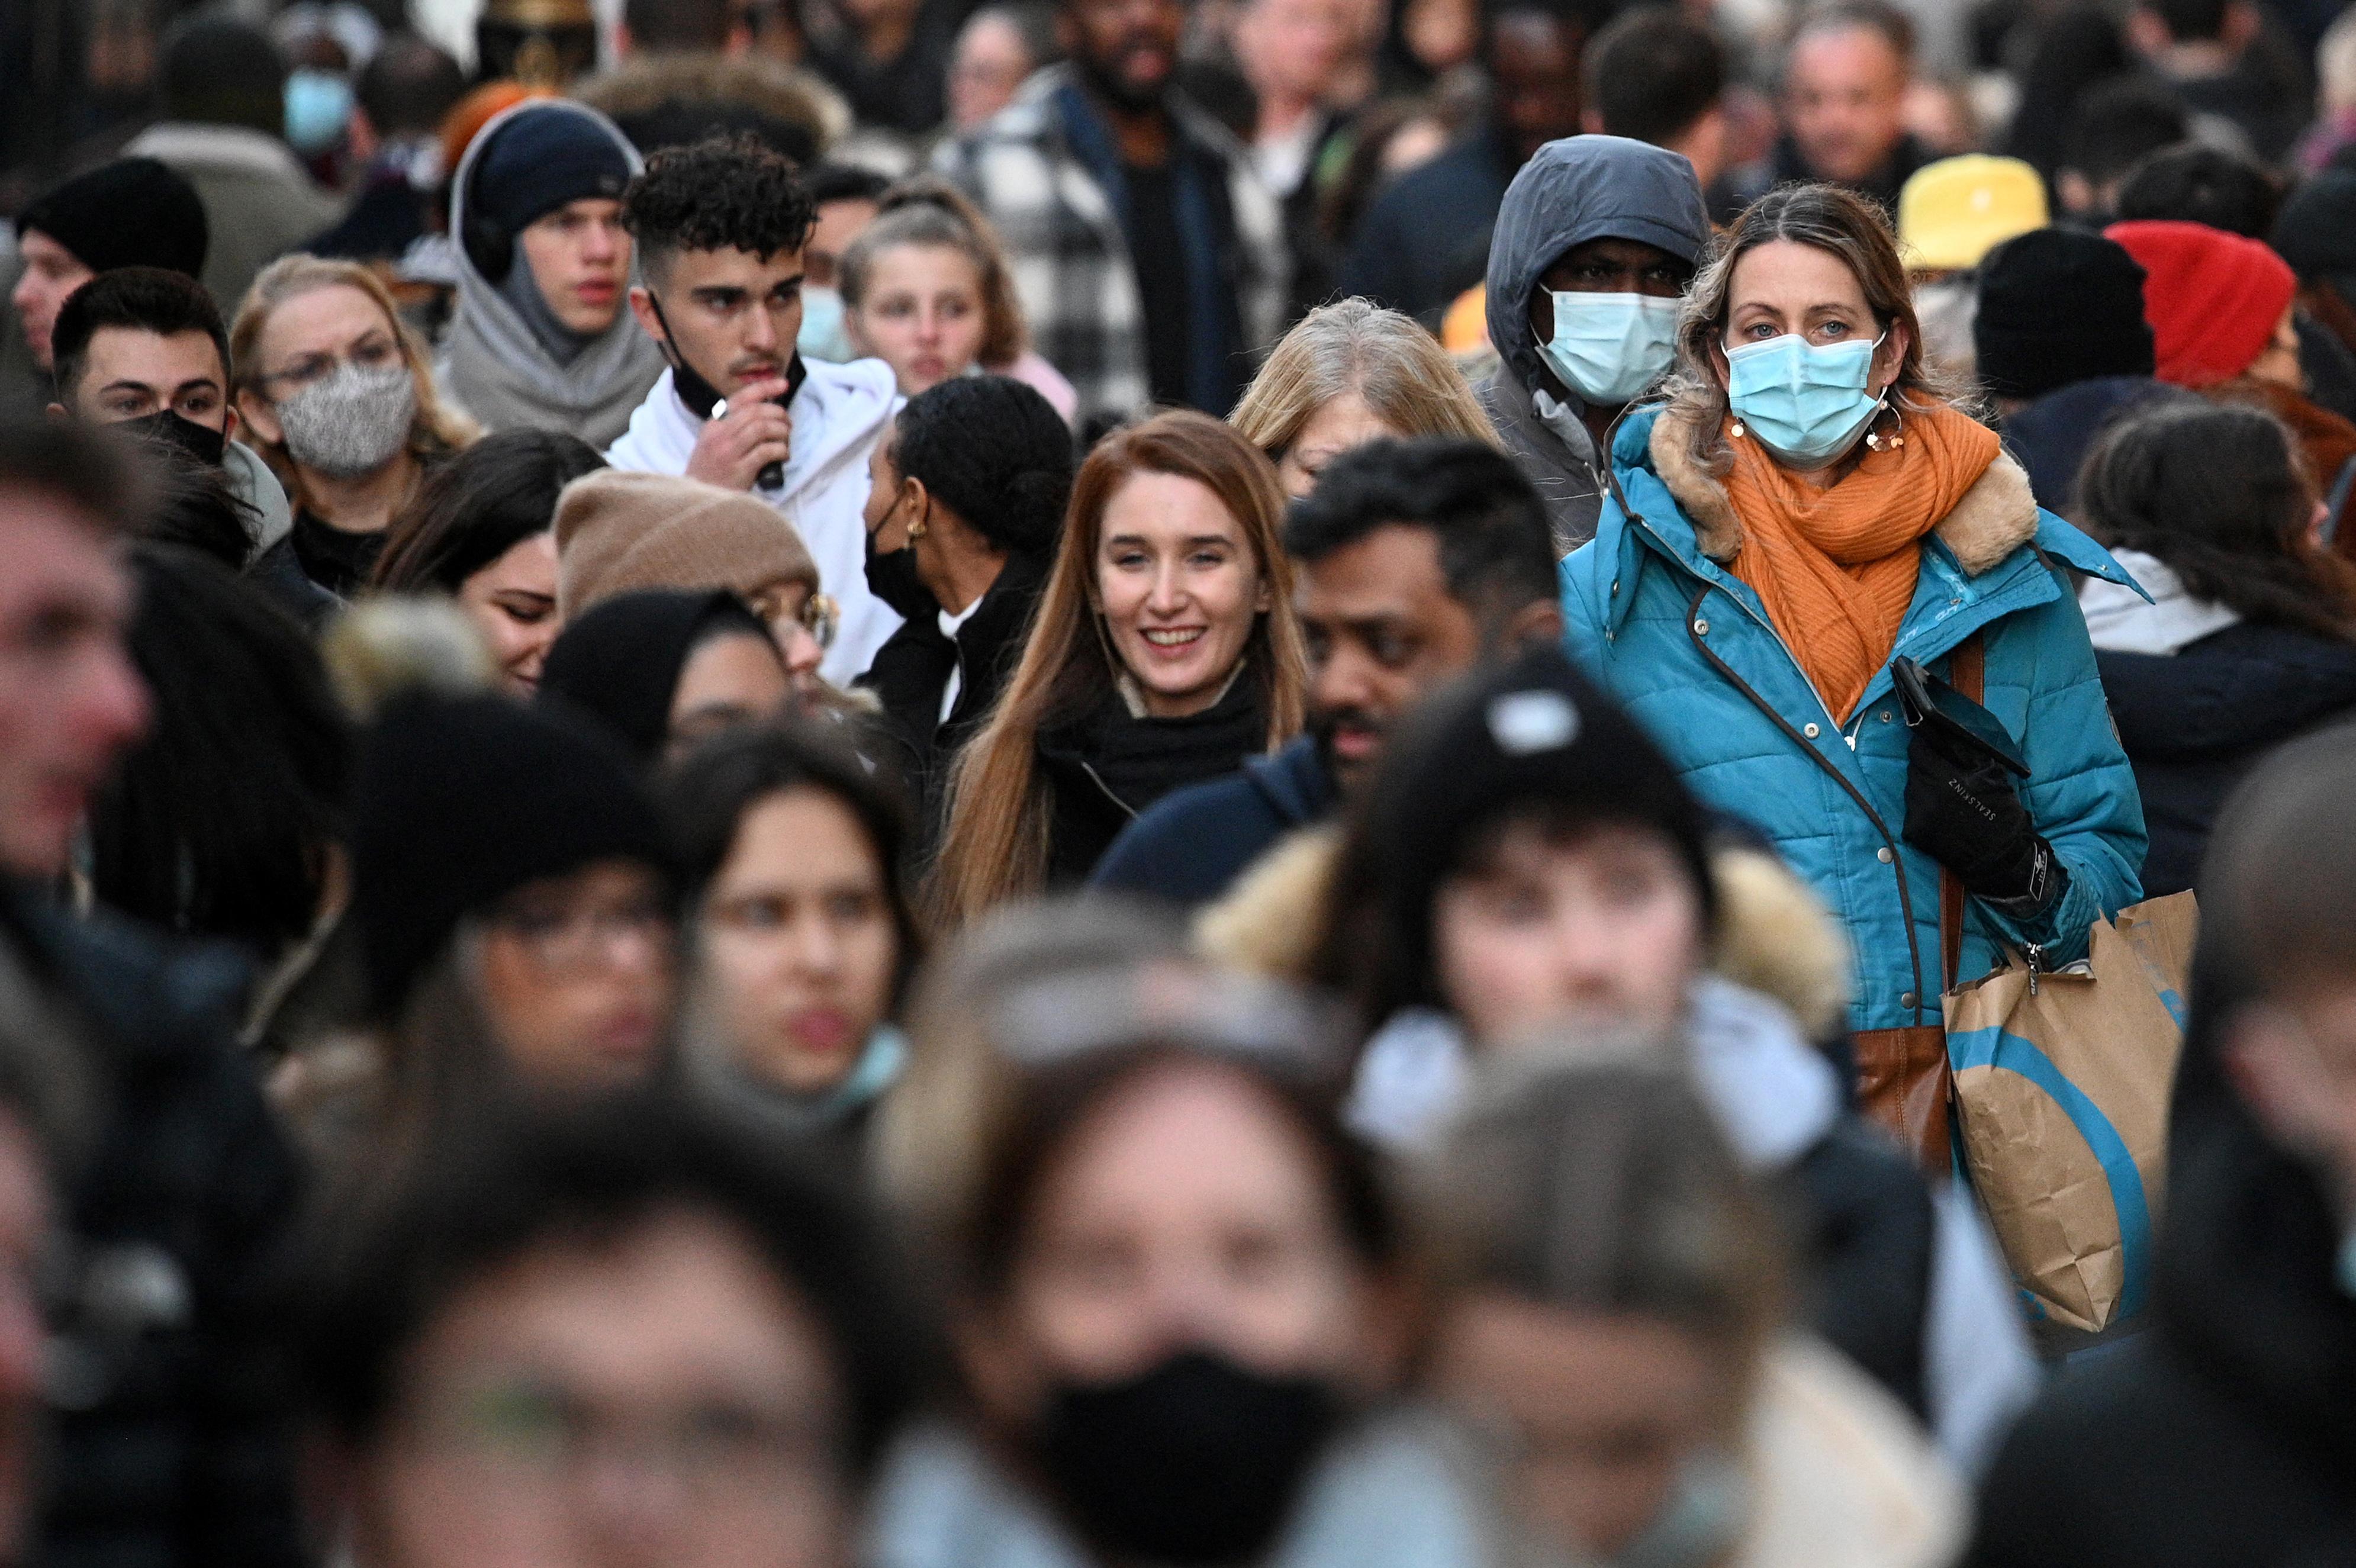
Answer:
[(1576, 1559), (1637, 1542), (1729, 1406), (1722, 1370), (1680, 1328), (1489, 1290), (1442, 1318), (1432, 1384), (1498, 1441), (1522, 1516)]

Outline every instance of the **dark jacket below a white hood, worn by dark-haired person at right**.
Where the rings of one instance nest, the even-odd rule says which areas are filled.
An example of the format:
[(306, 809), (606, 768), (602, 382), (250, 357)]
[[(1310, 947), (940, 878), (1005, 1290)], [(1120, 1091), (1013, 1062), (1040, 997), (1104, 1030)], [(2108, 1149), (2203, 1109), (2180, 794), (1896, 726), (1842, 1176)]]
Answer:
[(2144, 897), (2184, 892), (2217, 808), (2283, 742), (2356, 711), (2356, 643), (2226, 626), (2175, 655), (2104, 652), (2102, 690), (2144, 796)]

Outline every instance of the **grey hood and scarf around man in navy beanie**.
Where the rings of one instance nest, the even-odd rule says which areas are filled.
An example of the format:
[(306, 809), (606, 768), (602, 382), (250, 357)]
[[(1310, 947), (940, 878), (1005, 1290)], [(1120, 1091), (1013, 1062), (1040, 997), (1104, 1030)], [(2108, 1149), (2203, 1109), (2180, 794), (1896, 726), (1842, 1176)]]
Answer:
[[(613, 137), (631, 174), (643, 167), (638, 148), (598, 111), (568, 99), (516, 104), (481, 129), (457, 165), (457, 177), (450, 181), (452, 235), (466, 233), (466, 198), (483, 148), (509, 115), (549, 111), (582, 115)], [(638, 330), (629, 306), (615, 311), (605, 334), (582, 348), (570, 365), (558, 365), (464, 245), (450, 245), (450, 261), (457, 268), (457, 315), (436, 367), (450, 398), (485, 431), (540, 426), (570, 431), (594, 447), (615, 440), (664, 367), (662, 351)], [(516, 266), (523, 266), (521, 254)]]

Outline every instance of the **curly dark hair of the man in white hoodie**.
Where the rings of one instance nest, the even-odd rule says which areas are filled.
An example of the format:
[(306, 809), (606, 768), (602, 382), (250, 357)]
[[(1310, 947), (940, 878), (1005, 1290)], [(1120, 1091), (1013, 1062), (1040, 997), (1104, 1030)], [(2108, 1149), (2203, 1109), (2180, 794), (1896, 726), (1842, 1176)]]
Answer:
[(622, 191), (622, 228), (653, 264), (683, 250), (744, 250), (768, 261), (801, 250), (813, 217), (794, 160), (752, 132), (662, 148)]

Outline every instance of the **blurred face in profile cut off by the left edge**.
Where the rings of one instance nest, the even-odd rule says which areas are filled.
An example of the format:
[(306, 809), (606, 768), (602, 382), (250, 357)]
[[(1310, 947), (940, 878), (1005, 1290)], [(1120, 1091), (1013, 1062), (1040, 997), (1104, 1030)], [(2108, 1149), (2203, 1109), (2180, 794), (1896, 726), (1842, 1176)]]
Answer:
[(130, 579), (68, 501), (0, 490), (0, 871), (52, 878), (115, 753), (146, 725), (123, 652)]

